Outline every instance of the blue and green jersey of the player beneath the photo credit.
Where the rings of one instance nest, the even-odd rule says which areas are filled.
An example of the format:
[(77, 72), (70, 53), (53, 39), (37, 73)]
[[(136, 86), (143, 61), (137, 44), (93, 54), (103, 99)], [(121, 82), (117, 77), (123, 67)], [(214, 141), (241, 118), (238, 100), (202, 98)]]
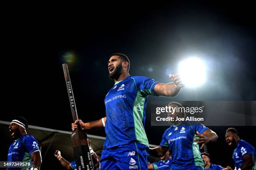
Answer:
[(197, 121), (185, 121), (178, 126), (170, 126), (165, 130), (160, 146), (169, 148), (172, 155), (172, 169), (187, 169), (191, 166), (205, 168), (199, 144), (194, 139), (196, 132), (203, 133), (207, 130)]

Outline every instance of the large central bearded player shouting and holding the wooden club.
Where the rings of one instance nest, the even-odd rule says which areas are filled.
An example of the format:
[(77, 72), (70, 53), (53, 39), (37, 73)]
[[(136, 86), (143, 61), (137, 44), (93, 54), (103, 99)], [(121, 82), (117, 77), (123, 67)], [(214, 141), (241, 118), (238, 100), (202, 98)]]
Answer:
[(173, 83), (129, 74), (130, 61), (126, 55), (115, 53), (108, 60), (110, 79), (114, 86), (105, 97), (106, 117), (85, 123), (76, 120), (84, 130), (104, 128), (106, 140), (100, 168), (102, 170), (148, 169), (148, 139), (144, 129), (148, 95), (175, 96), (184, 87), (179, 74), (169, 75)]

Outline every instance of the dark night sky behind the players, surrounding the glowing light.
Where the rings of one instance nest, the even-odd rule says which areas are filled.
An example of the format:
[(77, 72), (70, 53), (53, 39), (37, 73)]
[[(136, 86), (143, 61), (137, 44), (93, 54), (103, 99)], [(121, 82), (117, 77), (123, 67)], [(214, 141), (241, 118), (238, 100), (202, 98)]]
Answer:
[[(67, 52), (76, 57), (70, 76), (79, 118), (86, 121), (105, 116), (104, 98), (113, 86), (107, 62), (114, 52), (130, 58), (131, 75), (164, 83), (169, 82), (166, 69), (177, 73), (183, 58), (198, 55), (207, 61), (205, 85), (184, 88), (172, 99), (149, 97), (146, 132), (152, 144), (159, 144), (167, 128), (150, 126), (152, 100), (256, 100), (253, 5), (148, 5), (12, 8), (13, 12), (5, 13), (1, 70), (3, 108), (8, 114), (2, 114), (1, 120), (23, 115), (31, 125), (70, 130), (72, 117), (61, 66)], [(148, 67), (154, 71), (148, 72)], [(226, 149), (227, 127), (211, 128), (220, 138), (209, 150), (218, 155), (217, 148)], [(237, 128), (253, 143), (248, 132), (255, 127)], [(105, 135), (103, 130), (88, 133)], [(214, 160), (226, 165), (225, 156), (221, 153)]]

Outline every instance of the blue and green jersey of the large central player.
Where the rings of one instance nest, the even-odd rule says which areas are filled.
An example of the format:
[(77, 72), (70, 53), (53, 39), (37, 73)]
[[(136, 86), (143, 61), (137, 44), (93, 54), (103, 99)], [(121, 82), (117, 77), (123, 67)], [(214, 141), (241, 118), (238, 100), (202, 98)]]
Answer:
[(142, 76), (128, 76), (116, 82), (105, 97), (106, 140), (104, 148), (137, 141), (148, 145), (144, 130), (148, 95), (158, 82)]

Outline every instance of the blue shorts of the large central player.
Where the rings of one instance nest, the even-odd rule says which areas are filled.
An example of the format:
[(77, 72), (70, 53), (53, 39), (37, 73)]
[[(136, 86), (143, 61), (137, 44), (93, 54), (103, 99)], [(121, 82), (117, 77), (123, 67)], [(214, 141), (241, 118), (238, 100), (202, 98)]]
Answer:
[(103, 149), (100, 170), (147, 170), (149, 148), (133, 142)]

